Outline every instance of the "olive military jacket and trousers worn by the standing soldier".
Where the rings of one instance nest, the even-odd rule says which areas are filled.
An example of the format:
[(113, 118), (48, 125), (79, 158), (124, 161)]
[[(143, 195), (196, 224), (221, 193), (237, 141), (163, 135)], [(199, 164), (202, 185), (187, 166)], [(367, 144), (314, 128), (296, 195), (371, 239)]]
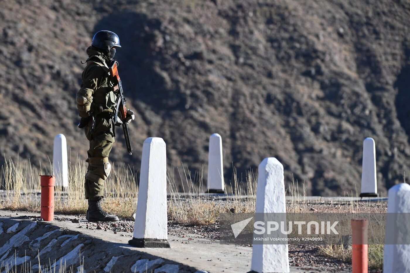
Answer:
[[(113, 88), (115, 83), (109, 75), (108, 64), (111, 59), (93, 46), (87, 49), (87, 54), (87, 66), (82, 73), (82, 84), (77, 93), (77, 108), (83, 121), (88, 118), (84, 127), (85, 135), (90, 141), (84, 183), (85, 198), (97, 200), (104, 195), (104, 180), (111, 171), (108, 156), (114, 143), (112, 113), (116, 109), (117, 97)], [(93, 130), (90, 115), (95, 118)]]

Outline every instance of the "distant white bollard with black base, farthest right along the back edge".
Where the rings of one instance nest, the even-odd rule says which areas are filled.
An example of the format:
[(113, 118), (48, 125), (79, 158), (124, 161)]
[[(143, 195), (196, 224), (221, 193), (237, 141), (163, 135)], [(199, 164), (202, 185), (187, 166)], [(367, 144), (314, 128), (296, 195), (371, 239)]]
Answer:
[(363, 141), (362, 189), (360, 197), (377, 197), (376, 145), (368, 137)]

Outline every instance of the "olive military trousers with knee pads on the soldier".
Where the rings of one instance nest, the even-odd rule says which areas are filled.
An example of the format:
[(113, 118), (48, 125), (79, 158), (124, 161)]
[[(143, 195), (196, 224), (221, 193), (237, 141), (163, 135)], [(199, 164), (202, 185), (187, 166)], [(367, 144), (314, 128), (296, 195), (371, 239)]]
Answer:
[(114, 136), (109, 117), (96, 118), (95, 128), (90, 134), (91, 126), (90, 119), (87, 126), (84, 127), (85, 135), (90, 141), (90, 149), (87, 152), (86, 162), (88, 162), (88, 168), (85, 175), (84, 189), (86, 199), (98, 200), (100, 196), (104, 196), (104, 181), (111, 171), (108, 156), (114, 143)]

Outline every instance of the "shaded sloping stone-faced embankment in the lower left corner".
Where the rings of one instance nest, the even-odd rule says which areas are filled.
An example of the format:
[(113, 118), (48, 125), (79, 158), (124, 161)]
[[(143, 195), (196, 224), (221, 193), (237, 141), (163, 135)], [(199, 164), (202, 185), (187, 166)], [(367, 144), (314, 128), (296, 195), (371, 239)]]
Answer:
[[(64, 222), (32, 221), (32, 217), (21, 212), (18, 212), (19, 216), (14, 212), (14, 217), (8, 216), (11, 213), (6, 211), (0, 214), (0, 266), (3, 269), (6, 264), (10, 268), (31, 263), (32, 270), (36, 271), (39, 255), (42, 269), (50, 269), (51, 264), (56, 272), (62, 265), (77, 268), (77, 271), (81, 271), (82, 266), (87, 272), (198, 272), (198, 268), (130, 249), (126, 243), (76, 232), (64, 227)], [(16, 228), (5, 232), (13, 226)]]

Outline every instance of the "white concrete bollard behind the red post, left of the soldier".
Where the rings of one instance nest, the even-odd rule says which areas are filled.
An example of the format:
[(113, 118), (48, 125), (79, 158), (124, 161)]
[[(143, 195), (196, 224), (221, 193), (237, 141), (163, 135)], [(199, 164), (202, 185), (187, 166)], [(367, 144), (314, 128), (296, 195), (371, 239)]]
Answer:
[(52, 156), (53, 173), (57, 187), (68, 187), (67, 141), (64, 134), (57, 134), (54, 138)]

